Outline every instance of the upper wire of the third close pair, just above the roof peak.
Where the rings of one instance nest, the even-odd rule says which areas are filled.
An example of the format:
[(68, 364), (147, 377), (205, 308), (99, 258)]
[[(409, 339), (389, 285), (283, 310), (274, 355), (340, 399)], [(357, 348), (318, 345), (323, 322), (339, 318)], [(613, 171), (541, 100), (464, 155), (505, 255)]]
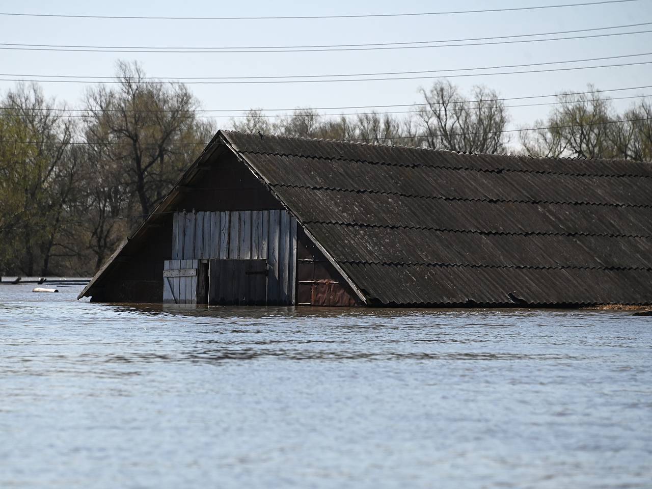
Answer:
[[(623, 87), (623, 88), (612, 88), (608, 90), (588, 90), (584, 92), (567, 92), (567, 93), (552, 93), (548, 95), (526, 95), (526, 96), (512, 96), (512, 97), (503, 97), (503, 98), (487, 98), (484, 100), (458, 100), (451, 102), (451, 104), (474, 104), (476, 102), (502, 102), (505, 100), (527, 100), (529, 98), (550, 98), (551, 96), (559, 96), (559, 95), (587, 95), (591, 93), (607, 93), (607, 92), (619, 92), (619, 91), (627, 91), (627, 90), (640, 90), (644, 88), (652, 88), (652, 85), (640, 85), (638, 87)], [(102, 112), (119, 112), (119, 113), (168, 113), (168, 112), (174, 112), (174, 113), (183, 113), (183, 112), (188, 112), (188, 113), (198, 113), (198, 112), (248, 112), (251, 110), (259, 111), (259, 112), (282, 112), (282, 111), (292, 111), (292, 110), (349, 110), (349, 109), (375, 109), (375, 108), (387, 108), (387, 107), (415, 107), (415, 106), (422, 106), (424, 105), (423, 102), (419, 103), (413, 103), (413, 104), (385, 104), (385, 105), (362, 105), (362, 106), (339, 106), (339, 107), (304, 107), (304, 108), (285, 108), (285, 109), (197, 109), (197, 110), (122, 110), (122, 109), (107, 109), (107, 110), (101, 110)], [(438, 103), (436, 105), (441, 105), (441, 103)], [(546, 104), (547, 105), (547, 104)], [(19, 107), (0, 107), (0, 110), (30, 110), (30, 111), (52, 111), (52, 112), (89, 112), (93, 110), (88, 110), (88, 109), (57, 109), (57, 108), (46, 108), (46, 107), (35, 107), (35, 108), (19, 108)], [(99, 110), (98, 110), (99, 111)], [(227, 116), (231, 117), (231, 116)]]

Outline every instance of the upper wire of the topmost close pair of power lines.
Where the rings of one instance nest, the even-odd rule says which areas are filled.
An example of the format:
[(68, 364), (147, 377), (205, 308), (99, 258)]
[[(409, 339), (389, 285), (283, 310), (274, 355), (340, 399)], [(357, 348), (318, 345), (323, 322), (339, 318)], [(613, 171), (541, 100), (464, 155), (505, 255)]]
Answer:
[[(428, 41), (405, 42), (366, 42), (363, 44), (310, 44), (304, 46), (78, 46), (73, 44), (21, 44), (18, 42), (0, 42), (0, 46), (17, 46), (25, 48), (92, 48), (98, 50), (129, 49), (129, 50), (286, 50), (309, 48), (362, 48), (366, 46), (404, 46), (406, 44), (435, 44), (441, 42), (467, 42), (477, 40), (509, 39), (516, 37), (552, 36), (558, 34), (571, 34), (589, 31), (605, 31), (608, 29), (625, 29), (627, 27), (640, 27), (650, 25), (652, 22), (630, 23), (625, 25), (612, 25), (610, 27), (592, 27), (591, 29), (575, 29), (573, 31), (553, 31), (537, 34), (516, 34), (509, 36), (471, 37), (464, 39), (442, 39)], [(103, 77), (99, 77), (103, 78)], [(169, 77), (173, 78), (173, 77)], [(200, 77), (202, 78), (202, 77)]]

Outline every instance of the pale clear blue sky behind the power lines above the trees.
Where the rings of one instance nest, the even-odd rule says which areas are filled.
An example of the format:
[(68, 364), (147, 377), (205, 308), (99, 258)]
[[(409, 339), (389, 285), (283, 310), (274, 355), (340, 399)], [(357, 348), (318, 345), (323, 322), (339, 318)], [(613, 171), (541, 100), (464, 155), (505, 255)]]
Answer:
[[(576, 0), (588, 1), (588, 0)], [(341, 15), (433, 10), (556, 5), (568, 0), (343, 0), (312, 5), (305, 2), (88, 1), (33, 0), (3, 2), (4, 12), (95, 14), (119, 16), (281, 16)], [(406, 42), (518, 35), (652, 22), (652, 0), (591, 7), (523, 10), (402, 18), (337, 20), (91, 20), (0, 16), (0, 42), (89, 44), (113, 46), (269, 46)], [(652, 29), (651, 26), (636, 30)], [(588, 34), (588, 33), (587, 33)], [(16, 74), (115, 74), (117, 59), (138, 60), (148, 76), (278, 76), (393, 72), (512, 65), (544, 61), (617, 56), (652, 52), (652, 33), (580, 40), (532, 42), (495, 46), (375, 52), (313, 53), (70, 53), (1, 51), (1, 71)], [(652, 61), (652, 56), (591, 64)], [(561, 90), (582, 91), (587, 83), (602, 89), (652, 85), (652, 65), (599, 68), (570, 72), (473, 76), (453, 80), (462, 89), (482, 83), (501, 96), (527, 96)], [(3, 77), (6, 78), (6, 77)], [(256, 85), (192, 85), (205, 109), (293, 108), (297, 106), (357, 106), (406, 104), (420, 101), (417, 90), (430, 80)], [(0, 89), (12, 87), (0, 82)], [(84, 85), (44, 83), (46, 94), (69, 105), (80, 104)], [(652, 94), (652, 89), (614, 96)], [(625, 107), (629, 101), (618, 102)], [(512, 126), (545, 117), (548, 107), (514, 108)], [(228, 120), (220, 125), (227, 126)]]

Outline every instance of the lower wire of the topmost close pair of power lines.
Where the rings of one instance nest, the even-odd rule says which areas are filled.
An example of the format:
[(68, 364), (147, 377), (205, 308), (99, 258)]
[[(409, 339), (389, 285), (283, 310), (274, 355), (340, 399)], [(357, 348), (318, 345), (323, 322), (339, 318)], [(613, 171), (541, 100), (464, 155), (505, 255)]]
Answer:
[[(406, 50), (406, 49), (425, 49), (425, 48), (458, 48), (460, 46), (494, 46), (496, 44), (521, 44), (523, 42), (543, 42), (543, 41), (556, 41), (556, 40), (573, 40), (573, 39), (589, 39), (596, 37), (613, 37), (625, 36), (632, 34), (645, 34), (652, 31), (631, 31), (622, 33), (606, 33), (606, 34), (592, 34), (588, 36), (569, 36), (569, 37), (550, 37), (544, 39), (519, 39), (519, 40), (506, 40), (506, 41), (492, 41), (492, 42), (465, 42), (461, 44), (432, 44), (421, 46), (378, 46), (366, 48), (310, 48), (310, 49), (262, 49), (262, 50), (248, 50), (248, 49), (102, 49), (98, 47), (84, 47), (76, 46), (74, 48), (27, 48), (27, 47), (8, 47), (0, 46), (0, 50), (13, 50), (13, 51), (47, 51), (47, 52), (72, 52), (72, 53), (311, 53), (311, 52), (334, 52), (334, 51), (378, 51), (378, 50)], [(12, 44), (18, 46), (18, 44)], [(45, 44), (36, 44), (35, 46), (46, 46)]]

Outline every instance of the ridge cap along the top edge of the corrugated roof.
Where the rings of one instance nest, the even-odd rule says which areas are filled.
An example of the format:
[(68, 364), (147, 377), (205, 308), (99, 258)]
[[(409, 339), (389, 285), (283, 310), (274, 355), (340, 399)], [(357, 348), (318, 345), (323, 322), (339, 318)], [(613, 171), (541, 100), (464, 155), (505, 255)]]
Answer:
[[(221, 130), (222, 133), (224, 134), (242, 134), (244, 136), (258, 136), (261, 137), (261, 134), (256, 134), (253, 132), (243, 132), (243, 131), (237, 131), (237, 130)], [(324, 142), (324, 143), (347, 143), (347, 144), (356, 144), (356, 145), (366, 145), (366, 146), (381, 146), (381, 147), (397, 147), (397, 148), (402, 148), (402, 149), (410, 149), (410, 150), (415, 150), (415, 151), (424, 151), (427, 153), (450, 153), (452, 155), (475, 155), (475, 156), (505, 156), (507, 158), (530, 158), (533, 160), (564, 160), (564, 161), (569, 161), (569, 162), (577, 162), (577, 161), (589, 161), (589, 162), (612, 162), (612, 163), (617, 163), (617, 164), (643, 164), (644, 166), (649, 166), (649, 170), (652, 171), (652, 162), (648, 161), (638, 161), (638, 160), (627, 160), (623, 158), (586, 158), (586, 157), (581, 157), (581, 158), (572, 158), (570, 156), (537, 156), (537, 155), (519, 155), (518, 153), (467, 153), (466, 151), (452, 151), (450, 149), (432, 149), (432, 148), (424, 148), (424, 147), (415, 147), (415, 146), (408, 146), (408, 145), (402, 145), (402, 144), (382, 144), (382, 143), (375, 143), (375, 142), (366, 142), (366, 141), (346, 141), (346, 140), (330, 140), (330, 139), (325, 139), (325, 138), (306, 138), (303, 136), (276, 136), (275, 134), (262, 134), (262, 138), (276, 138), (278, 140), (300, 140), (300, 141), (317, 141), (317, 142)], [(273, 154), (273, 153), (268, 153), (268, 154)]]

